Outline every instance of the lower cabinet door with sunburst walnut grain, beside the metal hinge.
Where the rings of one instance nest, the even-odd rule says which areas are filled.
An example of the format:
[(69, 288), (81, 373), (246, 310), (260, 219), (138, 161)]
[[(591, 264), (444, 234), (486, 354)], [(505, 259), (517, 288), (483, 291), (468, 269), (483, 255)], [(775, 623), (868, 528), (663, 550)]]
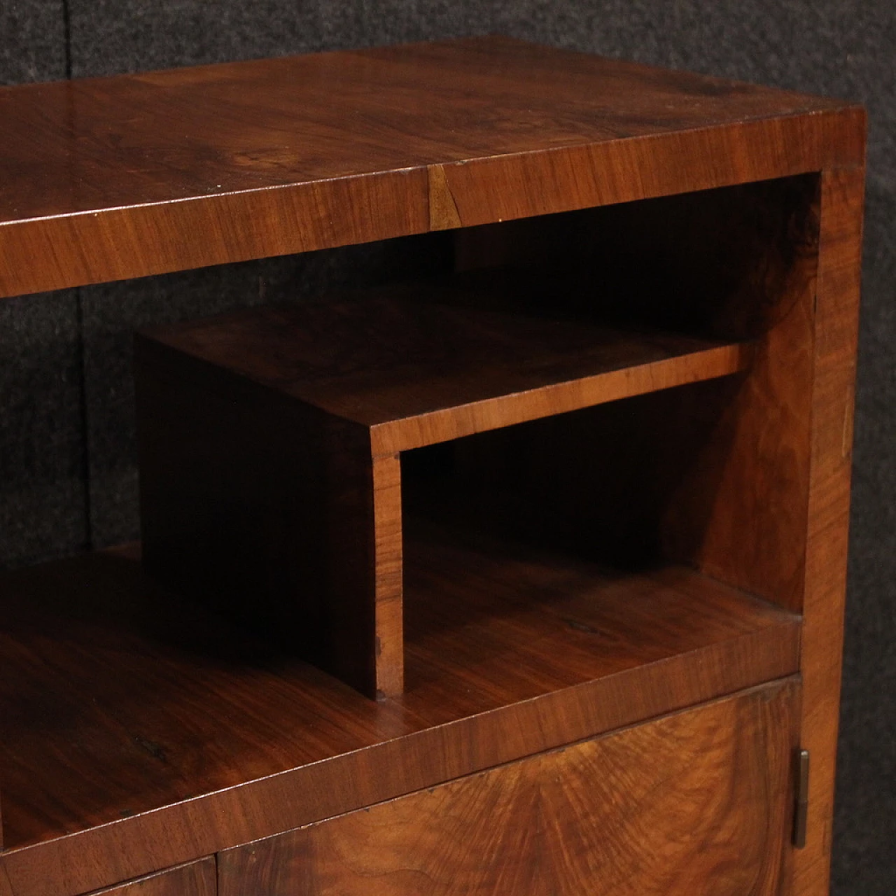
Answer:
[(798, 685), (230, 849), (220, 896), (779, 896)]

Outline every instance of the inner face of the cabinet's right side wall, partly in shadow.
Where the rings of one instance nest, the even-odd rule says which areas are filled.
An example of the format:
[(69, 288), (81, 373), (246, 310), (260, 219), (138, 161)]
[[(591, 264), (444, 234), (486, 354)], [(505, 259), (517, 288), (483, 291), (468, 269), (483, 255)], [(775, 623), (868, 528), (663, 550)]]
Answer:
[[(696, 564), (799, 610), (818, 177), (473, 228), (458, 238), (459, 261), (470, 269), (526, 264), (521, 271), (535, 281), (573, 271), (581, 282), (559, 298), (549, 293), (573, 318), (754, 340), (737, 377), (470, 440), (468, 470), (515, 495), (517, 525), (528, 518), (540, 538), (617, 562)], [(499, 273), (464, 276), (495, 281), (506, 301)], [(538, 301), (541, 289), (524, 300)]]

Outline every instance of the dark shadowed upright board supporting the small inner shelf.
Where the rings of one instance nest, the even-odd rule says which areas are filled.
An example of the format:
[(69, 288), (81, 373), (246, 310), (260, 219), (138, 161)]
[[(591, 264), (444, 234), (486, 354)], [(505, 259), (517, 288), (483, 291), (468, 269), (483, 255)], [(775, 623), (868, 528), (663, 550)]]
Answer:
[(375, 542), (388, 506), (374, 501), (366, 429), (147, 340), (136, 348), (147, 569), (368, 696), (391, 691), (401, 619), (383, 591), (377, 631), (375, 574), (392, 548)]

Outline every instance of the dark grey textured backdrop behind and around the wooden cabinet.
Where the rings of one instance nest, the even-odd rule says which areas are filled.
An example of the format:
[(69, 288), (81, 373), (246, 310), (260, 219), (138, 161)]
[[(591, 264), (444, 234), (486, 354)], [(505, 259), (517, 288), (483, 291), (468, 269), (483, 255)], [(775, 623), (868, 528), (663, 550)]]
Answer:
[[(501, 31), (828, 93), (870, 115), (838, 896), (896, 890), (896, 4), (892, 0), (0, 0), (0, 82)], [(0, 122), (0, 139), (3, 123)], [(392, 273), (392, 246), (0, 303), (0, 565), (136, 533), (130, 333)]]

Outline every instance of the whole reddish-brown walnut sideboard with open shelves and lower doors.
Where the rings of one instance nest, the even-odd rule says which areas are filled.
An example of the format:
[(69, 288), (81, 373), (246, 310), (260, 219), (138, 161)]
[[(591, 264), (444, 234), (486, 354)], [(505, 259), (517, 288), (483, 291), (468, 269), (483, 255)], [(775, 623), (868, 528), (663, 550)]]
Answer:
[(0, 580), (0, 896), (827, 892), (862, 108), (490, 37), (0, 121), (0, 297), (452, 256), (137, 335), (142, 546)]

